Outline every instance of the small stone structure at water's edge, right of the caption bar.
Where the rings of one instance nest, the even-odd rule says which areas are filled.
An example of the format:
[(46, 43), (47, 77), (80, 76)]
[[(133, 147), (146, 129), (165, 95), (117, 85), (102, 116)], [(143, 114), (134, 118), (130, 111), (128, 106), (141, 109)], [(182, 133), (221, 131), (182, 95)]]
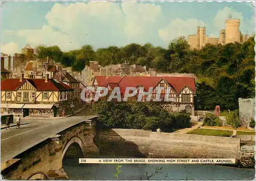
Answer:
[(244, 145), (241, 146), (241, 159), (240, 163), (246, 167), (253, 167), (255, 166), (254, 160), (254, 145)]

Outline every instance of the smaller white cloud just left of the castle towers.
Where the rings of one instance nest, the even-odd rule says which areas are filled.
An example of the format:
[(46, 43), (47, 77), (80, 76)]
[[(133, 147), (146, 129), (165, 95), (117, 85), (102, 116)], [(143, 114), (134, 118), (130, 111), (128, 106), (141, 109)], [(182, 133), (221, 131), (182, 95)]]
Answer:
[(198, 26), (205, 26), (205, 22), (198, 19), (180, 19), (176, 18), (170, 21), (170, 24), (159, 30), (159, 36), (166, 42), (169, 42), (178, 36), (187, 37), (189, 34), (196, 34)]

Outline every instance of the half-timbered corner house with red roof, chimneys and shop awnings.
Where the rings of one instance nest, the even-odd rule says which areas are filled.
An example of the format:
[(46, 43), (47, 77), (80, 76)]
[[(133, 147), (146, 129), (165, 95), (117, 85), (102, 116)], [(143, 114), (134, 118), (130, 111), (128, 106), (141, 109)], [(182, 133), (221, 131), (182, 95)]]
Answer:
[(5, 79), (1, 82), (1, 112), (41, 117), (60, 116), (62, 110), (71, 112), (74, 89), (49, 79)]

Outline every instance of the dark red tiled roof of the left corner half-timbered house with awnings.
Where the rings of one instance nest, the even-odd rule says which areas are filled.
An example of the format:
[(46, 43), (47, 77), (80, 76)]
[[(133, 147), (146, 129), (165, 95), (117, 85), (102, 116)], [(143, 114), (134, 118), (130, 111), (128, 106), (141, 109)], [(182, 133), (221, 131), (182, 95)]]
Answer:
[(49, 79), (48, 82), (45, 82), (45, 79), (24, 79), (22, 82), (19, 79), (5, 79), (1, 82), (1, 90), (16, 90), (26, 81), (31, 83), (38, 91), (73, 90), (70, 86), (62, 82), (56, 82), (53, 79)]

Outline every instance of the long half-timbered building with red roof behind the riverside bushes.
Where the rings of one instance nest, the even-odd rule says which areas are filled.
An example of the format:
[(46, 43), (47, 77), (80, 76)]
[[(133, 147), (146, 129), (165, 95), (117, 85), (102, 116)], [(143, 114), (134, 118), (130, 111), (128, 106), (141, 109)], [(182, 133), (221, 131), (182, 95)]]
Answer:
[[(150, 87), (153, 87), (151, 101), (157, 96), (158, 87), (164, 87), (161, 90), (160, 98), (164, 101), (167, 88), (170, 89), (169, 98), (173, 101), (163, 102), (163, 108), (169, 111), (186, 110), (191, 115), (194, 115), (194, 97), (196, 95), (195, 79), (193, 77), (178, 77), (178, 76), (95, 76), (94, 87), (105, 86), (109, 90), (115, 87), (120, 88), (121, 96), (124, 96), (126, 87), (143, 88), (144, 92), (148, 92)], [(138, 94), (137, 94), (138, 96)], [(142, 101), (146, 100), (146, 95), (142, 97)]]

